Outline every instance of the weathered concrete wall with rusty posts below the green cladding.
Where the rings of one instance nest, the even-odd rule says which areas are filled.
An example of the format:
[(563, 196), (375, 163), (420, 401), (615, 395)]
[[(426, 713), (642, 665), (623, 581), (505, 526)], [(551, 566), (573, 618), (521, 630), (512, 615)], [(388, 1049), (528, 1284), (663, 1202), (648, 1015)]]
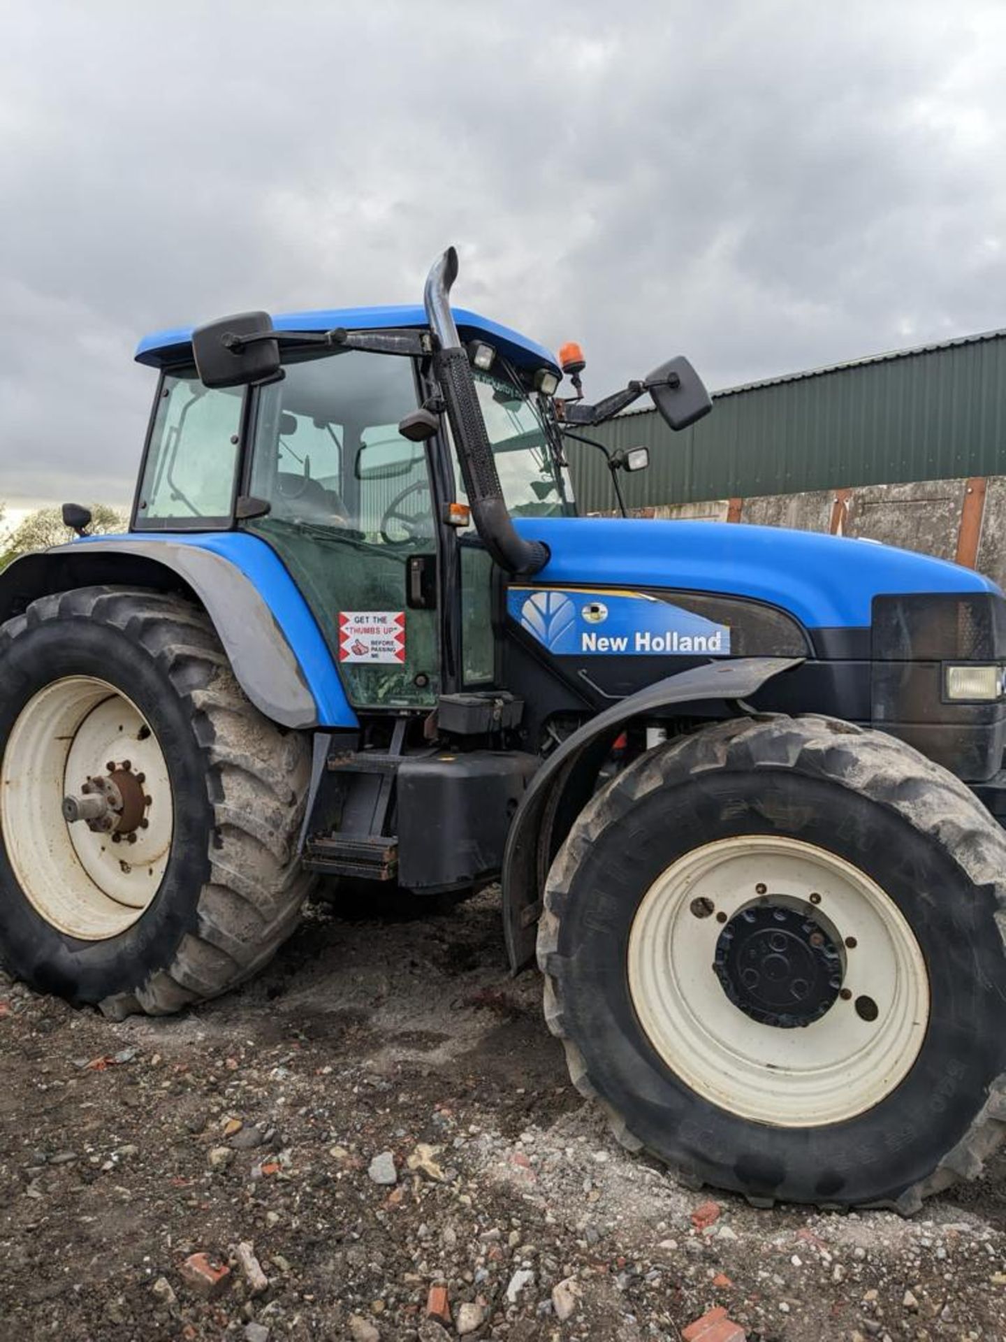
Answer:
[(865, 537), (976, 568), (1006, 588), (1006, 475), (672, 503), (634, 515)]

